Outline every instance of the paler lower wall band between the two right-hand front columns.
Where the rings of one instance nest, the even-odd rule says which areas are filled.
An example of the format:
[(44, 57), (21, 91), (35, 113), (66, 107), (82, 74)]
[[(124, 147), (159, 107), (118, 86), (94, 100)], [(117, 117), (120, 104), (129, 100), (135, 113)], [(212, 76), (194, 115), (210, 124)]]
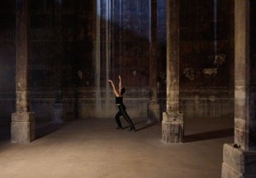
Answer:
[(233, 119), (234, 98), (228, 90), (187, 91), (181, 96), (181, 110), (185, 119)]

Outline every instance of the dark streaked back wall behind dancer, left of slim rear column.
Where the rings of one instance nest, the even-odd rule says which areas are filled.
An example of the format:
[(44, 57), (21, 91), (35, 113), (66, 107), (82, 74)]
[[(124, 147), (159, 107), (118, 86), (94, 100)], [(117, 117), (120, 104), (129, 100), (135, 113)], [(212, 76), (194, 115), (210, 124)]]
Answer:
[[(134, 90), (127, 90), (126, 97), (131, 115), (146, 116), (149, 91), (143, 96), (140, 93), (149, 87), (149, 3), (118, 2), (31, 1), (31, 110), (36, 121), (51, 119), (55, 92), (59, 90), (63, 91), (67, 117), (73, 117), (74, 111), (83, 118), (112, 117), (111, 109), (116, 105), (107, 79), (112, 78), (117, 85), (118, 74), (123, 77), (123, 85)], [(111, 12), (106, 12), (107, 6)], [(1, 7), (1, 66), (8, 73), (1, 77), (1, 117), (10, 119), (15, 111), (15, 1), (4, 1)], [(96, 34), (97, 16), (100, 39)], [(97, 43), (101, 51), (98, 63)], [(107, 55), (107, 43), (111, 44), (111, 57)], [(108, 63), (107, 58), (111, 59)]]

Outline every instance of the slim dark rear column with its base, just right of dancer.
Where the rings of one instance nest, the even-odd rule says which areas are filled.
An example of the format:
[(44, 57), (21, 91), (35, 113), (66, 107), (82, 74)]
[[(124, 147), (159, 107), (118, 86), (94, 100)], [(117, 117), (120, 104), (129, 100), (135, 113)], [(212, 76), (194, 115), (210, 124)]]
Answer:
[(157, 1), (151, 0), (148, 123), (160, 121), (160, 105), (157, 96)]

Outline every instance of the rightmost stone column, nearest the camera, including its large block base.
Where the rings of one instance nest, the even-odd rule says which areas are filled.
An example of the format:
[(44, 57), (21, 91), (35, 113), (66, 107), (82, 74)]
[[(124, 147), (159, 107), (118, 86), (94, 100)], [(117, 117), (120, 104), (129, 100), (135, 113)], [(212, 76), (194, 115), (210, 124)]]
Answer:
[(235, 143), (223, 149), (222, 177), (256, 177), (255, 90), (249, 57), (249, 0), (235, 0)]

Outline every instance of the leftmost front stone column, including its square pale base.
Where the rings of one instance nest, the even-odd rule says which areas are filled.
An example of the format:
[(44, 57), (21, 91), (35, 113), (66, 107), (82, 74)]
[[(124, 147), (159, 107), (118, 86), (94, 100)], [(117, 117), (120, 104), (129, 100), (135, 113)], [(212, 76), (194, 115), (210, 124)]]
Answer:
[(35, 139), (34, 113), (30, 110), (29, 4), (29, 0), (16, 1), (16, 112), (12, 113), (12, 143), (29, 143)]

